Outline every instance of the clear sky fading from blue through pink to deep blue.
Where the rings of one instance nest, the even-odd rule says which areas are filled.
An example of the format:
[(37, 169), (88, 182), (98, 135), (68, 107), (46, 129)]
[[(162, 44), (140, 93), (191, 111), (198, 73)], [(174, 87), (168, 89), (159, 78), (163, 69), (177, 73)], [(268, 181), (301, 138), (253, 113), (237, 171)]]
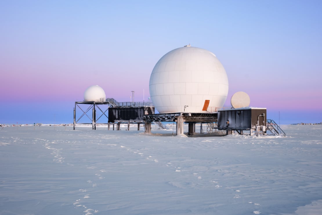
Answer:
[(0, 1), (0, 123), (72, 123), (98, 84), (147, 101), (167, 52), (221, 61), (233, 93), (281, 124), (322, 121), (322, 1)]

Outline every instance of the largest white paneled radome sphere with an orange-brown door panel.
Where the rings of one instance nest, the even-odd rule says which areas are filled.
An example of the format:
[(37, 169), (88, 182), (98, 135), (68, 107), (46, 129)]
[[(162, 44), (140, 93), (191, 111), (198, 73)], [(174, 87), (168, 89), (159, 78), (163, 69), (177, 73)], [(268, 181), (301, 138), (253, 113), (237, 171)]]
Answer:
[[(206, 112), (223, 107), (228, 78), (213, 53), (191, 46), (174, 49), (155, 65), (150, 76), (150, 96), (160, 113)], [(185, 108), (185, 106), (187, 106)]]

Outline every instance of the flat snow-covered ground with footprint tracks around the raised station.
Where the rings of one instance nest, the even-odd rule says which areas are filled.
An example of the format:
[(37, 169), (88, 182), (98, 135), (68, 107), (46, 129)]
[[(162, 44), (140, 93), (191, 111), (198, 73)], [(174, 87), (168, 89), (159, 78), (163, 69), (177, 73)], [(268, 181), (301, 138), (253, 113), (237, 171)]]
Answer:
[(4, 127), (0, 214), (321, 214), (322, 125), (281, 127), (286, 137)]

